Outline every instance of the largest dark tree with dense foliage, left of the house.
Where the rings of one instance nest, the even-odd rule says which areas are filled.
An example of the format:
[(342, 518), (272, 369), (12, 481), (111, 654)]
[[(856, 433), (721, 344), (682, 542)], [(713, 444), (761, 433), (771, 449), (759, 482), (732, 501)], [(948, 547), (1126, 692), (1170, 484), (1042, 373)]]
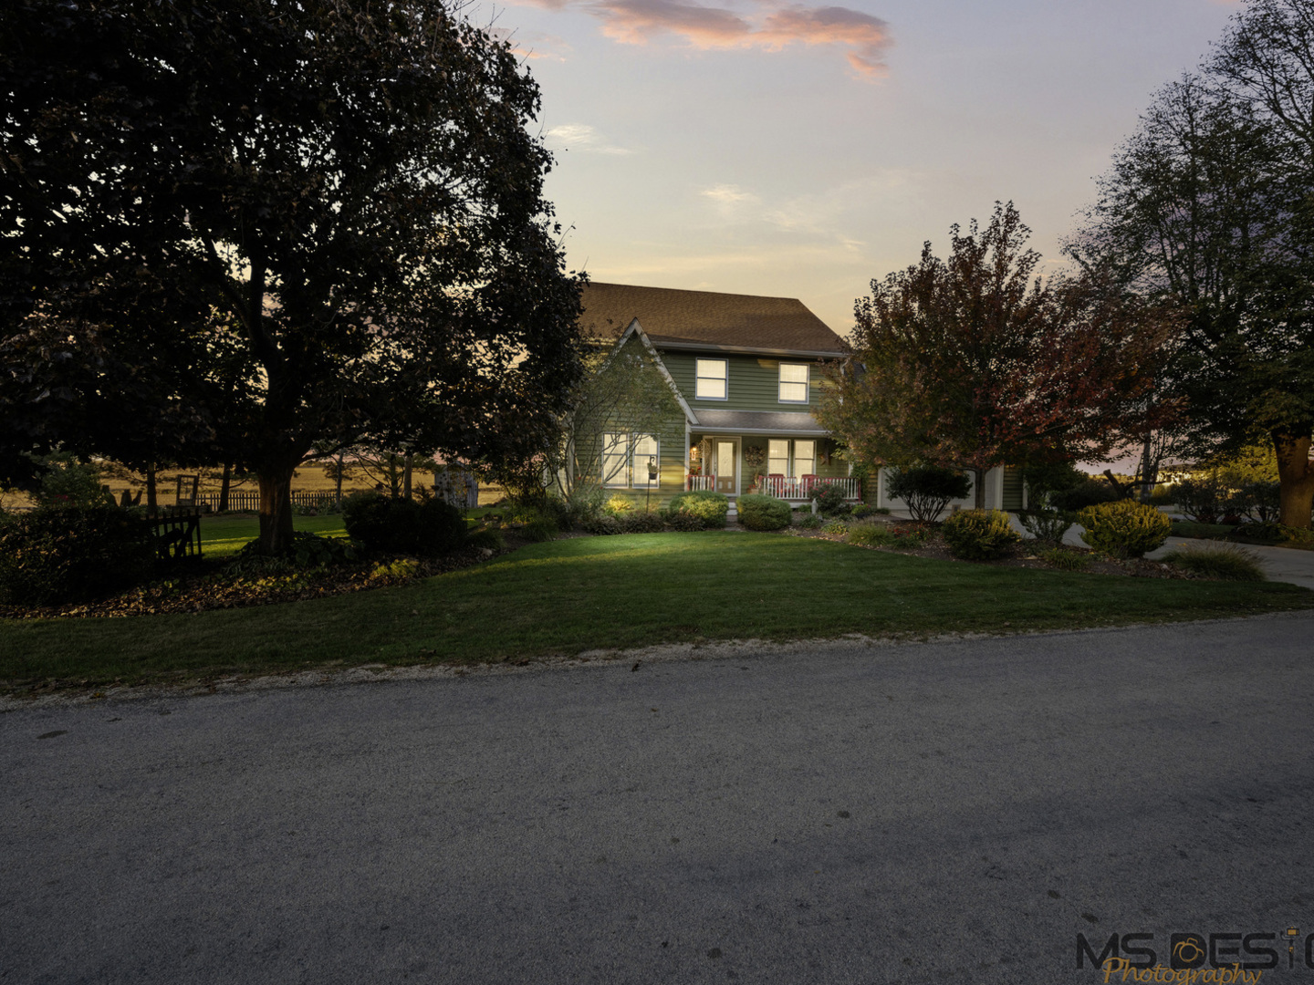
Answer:
[[(565, 407), (578, 284), (527, 129), (539, 89), (451, 5), (17, 0), (0, 38), (0, 402), (17, 418), (49, 398), (14, 390), (39, 351), (25, 339), (57, 332), (91, 368), (100, 345), (197, 424), (167, 428), (170, 457), (259, 474), (280, 552), (313, 448), (495, 457)], [(162, 290), (168, 311), (146, 317)], [(217, 393), (231, 339), (222, 365), (244, 372)], [(122, 418), (141, 437), (145, 415)]]

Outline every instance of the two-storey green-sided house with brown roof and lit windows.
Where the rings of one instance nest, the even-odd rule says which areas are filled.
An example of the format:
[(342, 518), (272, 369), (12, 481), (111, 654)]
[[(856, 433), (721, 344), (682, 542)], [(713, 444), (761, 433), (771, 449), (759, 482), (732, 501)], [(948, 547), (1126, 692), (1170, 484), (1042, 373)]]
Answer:
[[(733, 500), (749, 491), (802, 503), (817, 482), (849, 500), (904, 508), (880, 470), (863, 483), (836, 457), (813, 411), (821, 366), (844, 359), (844, 341), (795, 298), (589, 284), (581, 332), (611, 349), (646, 356), (669, 399), (615, 420), (602, 441), (604, 485), (614, 494), (664, 503), (683, 490)], [(1021, 473), (984, 475), (986, 506), (1025, 506)], [(971, 507), (974, 494), (953, 506)]]

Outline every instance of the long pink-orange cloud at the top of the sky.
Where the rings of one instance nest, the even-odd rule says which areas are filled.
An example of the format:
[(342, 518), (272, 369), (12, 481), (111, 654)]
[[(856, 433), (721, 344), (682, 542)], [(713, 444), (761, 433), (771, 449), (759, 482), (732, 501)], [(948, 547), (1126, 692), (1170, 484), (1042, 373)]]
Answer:
[(879, 17), (846, 7), (777, 7), (746, 16), (721, 7), (682, 0), (522, 0), (536, 7), (585, 11), (602, 21), (602, 33), (624, 45), (646, 45), (662, 34), (695, 49), (762, 49), (829, 45), (848, 49), (859, 77), (886, 75), (883, 59), (890, 30)]

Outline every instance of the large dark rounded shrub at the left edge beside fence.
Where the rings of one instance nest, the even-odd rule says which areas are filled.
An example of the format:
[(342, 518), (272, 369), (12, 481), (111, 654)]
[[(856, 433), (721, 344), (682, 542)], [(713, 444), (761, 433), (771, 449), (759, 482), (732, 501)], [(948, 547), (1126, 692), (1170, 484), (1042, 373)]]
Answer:
[(84, 602), (146, 580), (155, 566), (150, 521), (118, 507), (47, 506), (0, 524), (0, 600)]

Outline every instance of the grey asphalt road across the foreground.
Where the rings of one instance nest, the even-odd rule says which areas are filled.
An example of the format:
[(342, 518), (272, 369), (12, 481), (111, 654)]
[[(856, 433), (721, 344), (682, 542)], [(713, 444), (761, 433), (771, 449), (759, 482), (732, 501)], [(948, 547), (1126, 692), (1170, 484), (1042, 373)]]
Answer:
[(1311, 630), (9, 712), (0, 981), (1095, 982), (1077, 934), (1303, 935)]

